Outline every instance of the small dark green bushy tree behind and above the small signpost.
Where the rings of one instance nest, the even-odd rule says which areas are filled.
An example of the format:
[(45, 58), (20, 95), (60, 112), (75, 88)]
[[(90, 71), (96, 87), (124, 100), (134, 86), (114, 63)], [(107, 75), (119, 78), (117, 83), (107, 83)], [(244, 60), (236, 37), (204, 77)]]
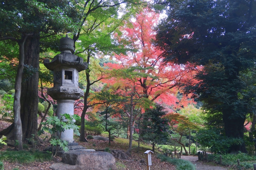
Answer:
[(156, 104), (155, 108), (146, 110), (143, 114), (141, 137), (145, 141), (152, 144), (152, 151), (155, 151), (157, 143), (165, 143), (168, 141), (169, 128), (168, 120), (163, 118), (167, 114), (164, 108)]

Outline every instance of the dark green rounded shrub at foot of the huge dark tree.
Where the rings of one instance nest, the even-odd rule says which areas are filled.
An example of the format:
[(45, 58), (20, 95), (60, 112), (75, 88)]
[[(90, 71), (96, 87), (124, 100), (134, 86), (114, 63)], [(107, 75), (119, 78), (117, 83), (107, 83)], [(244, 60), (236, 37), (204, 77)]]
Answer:
[(203, 147), (209, 147), (214, 153), (227, 153), (231, 146), (241, 145), (242, 139), (227, 138), (223, 135), (221, 129), (200, 130), (197, 135), (197, 141)]

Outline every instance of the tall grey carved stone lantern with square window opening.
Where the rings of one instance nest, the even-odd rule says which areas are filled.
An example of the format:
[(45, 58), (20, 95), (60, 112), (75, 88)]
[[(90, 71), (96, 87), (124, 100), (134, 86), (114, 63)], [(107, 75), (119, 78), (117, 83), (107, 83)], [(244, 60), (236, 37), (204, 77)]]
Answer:
[[(44, 59), (44, 65), (53, 71), (53, 88), (48, 88), (47, 94), (57, 100), (57, 116), (61, 118), (60, 114), (74, 115), (75, 100), (84, 95), (83, 90), (78, 87), (78, 72), (86, 70), (88, 64), (72, 54), (74, 41), (68, 36), (60, 39), (59, 48), (61, 53), (54, 56), (51, 62)], [(73, 129), (65, 130), (60, 138), (69, 142), (69, 146), (76, 146), (78, 143), (74, 143), (73, 134)]]

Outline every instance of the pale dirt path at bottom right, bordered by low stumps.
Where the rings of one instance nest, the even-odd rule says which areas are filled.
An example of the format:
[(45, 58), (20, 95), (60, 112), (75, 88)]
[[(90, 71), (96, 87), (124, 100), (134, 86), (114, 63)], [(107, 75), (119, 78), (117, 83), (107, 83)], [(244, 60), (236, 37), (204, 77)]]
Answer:
[(197, 156), (196, 157), (181, 156), (181, 159), (191, 161), (196, 166), (196, 170), (227, 170), (226, 168), (215, 165), (215, 164), (207, 165), (208, 163), (206, 163), (206, 162), (198, 161)]

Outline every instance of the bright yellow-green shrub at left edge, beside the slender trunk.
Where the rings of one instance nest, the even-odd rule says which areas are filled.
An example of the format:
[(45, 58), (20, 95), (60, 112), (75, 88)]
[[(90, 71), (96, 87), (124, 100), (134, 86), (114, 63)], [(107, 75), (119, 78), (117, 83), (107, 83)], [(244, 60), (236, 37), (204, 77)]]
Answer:
[(14, 119), (14, 115), (13, 115), (14, 96), (10, 94), (4, 94), (2, 96), (2, 101), (4, 103), (4, 106), (0, 107), (0, 111), (3, 118), (11, 117), (12, 119)]

